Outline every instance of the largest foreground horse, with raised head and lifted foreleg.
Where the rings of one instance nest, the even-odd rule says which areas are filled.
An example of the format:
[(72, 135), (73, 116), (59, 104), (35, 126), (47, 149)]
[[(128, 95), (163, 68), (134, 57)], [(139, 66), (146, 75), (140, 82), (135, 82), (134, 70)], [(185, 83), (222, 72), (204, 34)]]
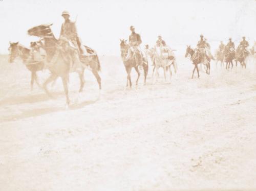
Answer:
[[(52, 25), (52, 24), (51, 24)], [(41, 41), (44, 41), (44, 49), (46, 51), (46, 65), (48, 69), (51, 71), (50, 77), (44, 82), (44, 90), (48, 94), (48, 96), (52, 97), (49, 90), (48, 84), (50, 82), (55, 81), (58, 77), (61, 78), (63, 88), (65, 90), (66, 95), (66, 106), (68, 107), (70, 104), (69, 99), (69, 91), (68, 91), (68, 81), (69, 81), (69, 73), (76, 72), (79, 75), (80, 79), (80, 88), (79, 93), (82, 92), (84, 86), (84, 78), (83, 73), (84, 69), (88, 67), (88, 65), (92, 69), (92, 73), (97, 79), (99, 89), (101, 89), (101, 78), (98, 74), (100, 70), (100, 62), (97, 54), (94, 54), (90, 57), (84, 58), (83, 63), (79, 60), (79, 56), (77, 54), (77, 50), (74, 48), (73, 50), (73, 66), (70, 68), (69, 57), (67, 57), (68, 52), (64, 50), (61, 43), (63, 40), (57, 40), (52, 33), (51, 25), (39, 25), (33, 27), (28, 30), (29, 35), (41, 37)], [(67, 42), (64, 42), (67, 45)], [(70, 42), (68, 41), (68, 44)], [(66, 108), (67, 108), (66, 107)]]

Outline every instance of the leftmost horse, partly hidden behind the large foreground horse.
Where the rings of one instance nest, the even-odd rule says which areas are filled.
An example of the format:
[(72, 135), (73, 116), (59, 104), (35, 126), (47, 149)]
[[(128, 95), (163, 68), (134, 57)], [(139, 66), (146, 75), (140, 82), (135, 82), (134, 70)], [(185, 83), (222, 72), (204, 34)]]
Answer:
[(14, 60), (19, 57), (22, 59), (25, 66), (28, 68), (28, 70), (31, 71), (31, 81), (30, 81), (30, 89), (33, 90), (33, 84), (34, 81), (36, 84), (41, 87), (41, 85), (38, 83), (37, 80), (37, 71), (40, 71), (44, 69), (44, 60), (35, 60), (31, 58), (31, 50), (25, 47), (22, 44), (19, 44), (19, 42), (10, 42), (9, 46), (10, 51), (10, 57), (9, 57), (9, 63), (13, 63)]

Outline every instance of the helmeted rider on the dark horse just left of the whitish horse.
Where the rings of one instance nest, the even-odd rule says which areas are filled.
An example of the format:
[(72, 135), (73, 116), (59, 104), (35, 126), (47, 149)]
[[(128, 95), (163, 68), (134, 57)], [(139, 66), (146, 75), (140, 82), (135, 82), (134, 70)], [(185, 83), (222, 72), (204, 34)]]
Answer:
[[(129, 43), (130, 43), (132, 49), (134, 51), (138, 51), (141, 54), (142, 58), (145, 58), (142, 51), (140, 50), (140, 44), (142, 42), (140, 35), (138, 33), (135, 33), (134, 26), (131, 26), (130, 30), (131, 30), (132, 33), (129, 36)], [(142, 62), (139, 63), (139, 67), (142, 68)]]

